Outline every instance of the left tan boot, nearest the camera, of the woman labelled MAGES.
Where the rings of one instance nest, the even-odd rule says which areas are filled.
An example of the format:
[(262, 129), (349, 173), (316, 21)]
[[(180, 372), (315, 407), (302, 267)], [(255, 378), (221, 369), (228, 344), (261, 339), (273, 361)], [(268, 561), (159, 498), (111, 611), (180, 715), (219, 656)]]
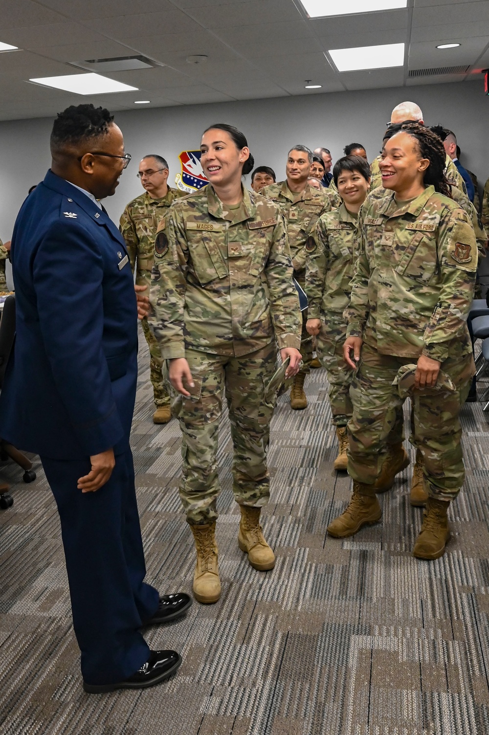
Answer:
[[(189, 524), (190, 525), (190, 524)], [(192, 526), (196, 542), (197, 565), (193, 575), (193, 596), (198, 602), (210, 604), (221, 597), (218, 547), (215, 543), (215, 521), (206, 526)]]

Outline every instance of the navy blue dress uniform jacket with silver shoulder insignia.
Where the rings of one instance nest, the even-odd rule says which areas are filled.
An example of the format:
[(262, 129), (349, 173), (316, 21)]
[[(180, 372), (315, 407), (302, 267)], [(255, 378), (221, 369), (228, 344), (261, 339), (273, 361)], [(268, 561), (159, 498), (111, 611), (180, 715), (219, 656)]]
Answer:
[(138, 309), (124, 239), (106, 212), (51, 171), (12, 237), (16, 337), (0, 436), (51, 459), (129, 448)]

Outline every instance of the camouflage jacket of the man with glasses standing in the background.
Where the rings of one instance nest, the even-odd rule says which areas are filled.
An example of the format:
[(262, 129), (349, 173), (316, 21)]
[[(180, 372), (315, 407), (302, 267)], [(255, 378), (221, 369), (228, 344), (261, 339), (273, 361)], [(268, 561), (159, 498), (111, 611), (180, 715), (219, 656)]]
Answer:
[(138, 285), (149, 288), (153, 267), (154, 238), (158, 223), (165, 217), (173, 201), (182, 196), (185, 196), (185, 193), (170, 187), (162, 199), (154, 199), (146, 191), (130, 201), (124, 209), (119, 229), (126, 241), (132, 273), (134, 273), (136, 259), (138, 259), (136, 270)]

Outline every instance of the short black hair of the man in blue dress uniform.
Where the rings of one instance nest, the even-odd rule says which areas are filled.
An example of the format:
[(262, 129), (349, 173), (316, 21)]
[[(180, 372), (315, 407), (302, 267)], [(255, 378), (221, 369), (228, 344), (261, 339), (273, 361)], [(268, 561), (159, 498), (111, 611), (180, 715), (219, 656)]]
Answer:
[(51, 153), (76, 146), (82, 140), (96, 140), (109, 132), (114, 116), (93, 104), (70, 105), (58, 112), (51, 132)]

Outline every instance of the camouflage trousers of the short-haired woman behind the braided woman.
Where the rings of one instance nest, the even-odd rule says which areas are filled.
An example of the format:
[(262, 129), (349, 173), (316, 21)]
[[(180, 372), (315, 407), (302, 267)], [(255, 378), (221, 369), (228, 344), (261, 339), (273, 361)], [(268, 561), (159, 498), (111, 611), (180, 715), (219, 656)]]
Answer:
[(327, 320), (321, 323), (318, 341), (318, 356), (326, 368), (329, 381), (329, 405), (335, 426), (346, 426), (353, 414), (350, 386), (354, 372), (343, 358), (343, 343), (346, 340), (346, 323)]

